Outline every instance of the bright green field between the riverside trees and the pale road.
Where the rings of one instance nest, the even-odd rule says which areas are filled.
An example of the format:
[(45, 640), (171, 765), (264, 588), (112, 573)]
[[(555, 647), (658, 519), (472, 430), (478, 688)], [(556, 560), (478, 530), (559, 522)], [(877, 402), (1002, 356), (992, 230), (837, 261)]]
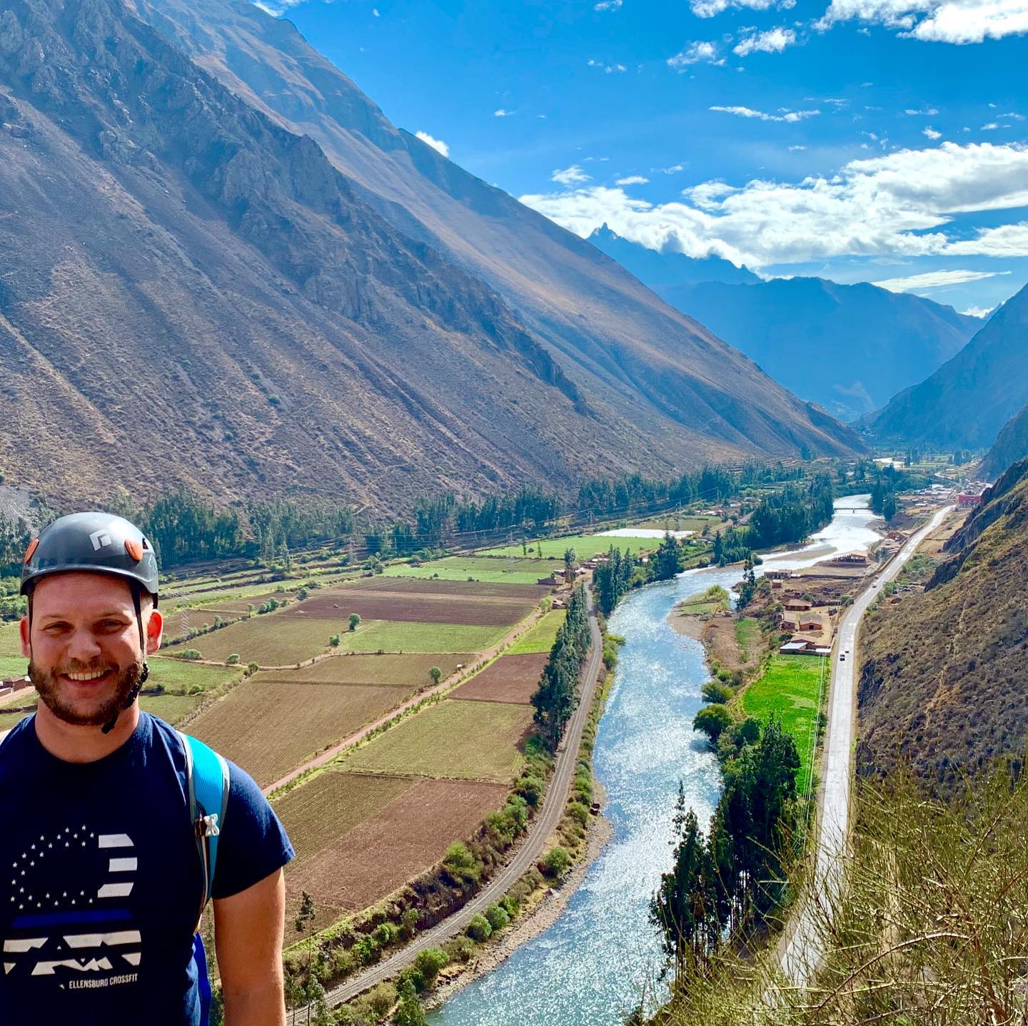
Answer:
[(796, 739), (801, 763), (797, 787), (802, 793), (806, 793), (810, 778), (810, 742), (817, 720), (822, 669), (827, 676), (830, 668), (817, 656), (773, 655), (767, 673), (742, 693), (747, 716), (767, 722), (774, 713)]

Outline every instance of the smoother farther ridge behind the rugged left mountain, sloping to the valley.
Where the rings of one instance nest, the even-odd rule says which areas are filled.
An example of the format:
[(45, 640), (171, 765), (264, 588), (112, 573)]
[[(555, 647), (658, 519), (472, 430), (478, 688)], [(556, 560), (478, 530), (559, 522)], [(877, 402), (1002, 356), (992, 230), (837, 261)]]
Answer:
[(316, 139), (362, 198), (497, 290), (568, 378), (647, 432), (698, 432), (694, 458), (709, 445), (700, 435), (720, 451), (860, 445), (588, 242), (395, 128), (288, 22), (244, 0), (136, 6), (237, 94)]

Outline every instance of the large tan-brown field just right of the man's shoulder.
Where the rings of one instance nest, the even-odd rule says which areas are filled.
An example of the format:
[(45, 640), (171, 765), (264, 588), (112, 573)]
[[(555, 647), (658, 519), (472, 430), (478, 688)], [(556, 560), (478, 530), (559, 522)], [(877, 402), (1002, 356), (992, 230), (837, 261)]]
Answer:
[(189, 724), (261, 786), (401, 705), (415, 687), (246, 681)]

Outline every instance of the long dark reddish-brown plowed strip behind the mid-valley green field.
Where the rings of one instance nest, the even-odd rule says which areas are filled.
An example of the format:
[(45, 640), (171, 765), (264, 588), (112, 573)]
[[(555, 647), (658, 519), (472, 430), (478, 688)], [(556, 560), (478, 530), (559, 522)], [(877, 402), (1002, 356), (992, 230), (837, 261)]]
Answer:
[(535, 602), (489, 597), (454, 598), (447, 595), (403, 595), (345, 588), (327, 592), (289, 606), (285, 619), (321, 619), (344, 623), (351, 613), (366, 620), (405, 620), (420, 623), (516, 623), (535, 608)]

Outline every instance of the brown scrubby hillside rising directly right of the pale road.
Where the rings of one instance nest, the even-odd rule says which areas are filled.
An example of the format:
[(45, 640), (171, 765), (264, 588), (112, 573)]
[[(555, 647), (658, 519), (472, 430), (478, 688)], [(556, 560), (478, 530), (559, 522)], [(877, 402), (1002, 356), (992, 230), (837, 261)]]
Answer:
[(1028, 459), (947, 542), (923, 594), (883, 600), (860, 629), (857, 767), (898, 760), (951, 792), (1028, 739)]

